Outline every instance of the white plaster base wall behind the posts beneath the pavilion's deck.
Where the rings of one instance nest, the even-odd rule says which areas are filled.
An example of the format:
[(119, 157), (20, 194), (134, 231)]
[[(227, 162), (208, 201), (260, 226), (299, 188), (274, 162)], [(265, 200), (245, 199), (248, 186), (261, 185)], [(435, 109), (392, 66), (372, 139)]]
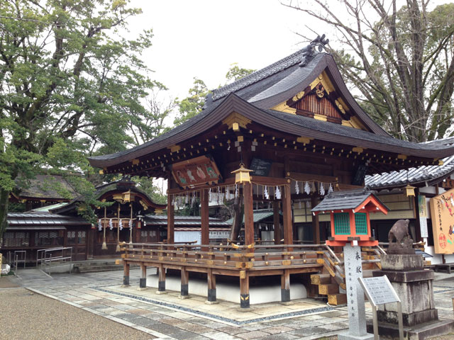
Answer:
[[(157, 289), (157, 275), (147, 276), (147, 287)], [(165, 289), (175, 290), (181, 289), (181, 279), (175, 276), (167, 276), (165, 278)], [(199, 278), (189, 278), (189, 295), (207, 296), (208, 285), (206, 280)], [(266, 286), (255, 287), (251, 286), (249, 290), (250, 304), (257, 305), (259, 303), (279, 302), (281, 300), (281, 285), (280, 282), (268, 283)], [(302, 283), (290, 283), (290, 299), (304, 299), (307, 297), (306, 287)], [(240, 303), (240, 283), (228, 284), (216, 282), (216, 298), (218, 300), (226, 300), (230, 302)]]

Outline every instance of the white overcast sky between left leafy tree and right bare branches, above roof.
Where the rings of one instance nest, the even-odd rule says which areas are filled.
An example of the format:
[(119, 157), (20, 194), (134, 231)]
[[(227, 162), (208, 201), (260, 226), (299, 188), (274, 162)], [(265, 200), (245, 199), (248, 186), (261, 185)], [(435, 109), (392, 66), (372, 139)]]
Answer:
[[(143, 14), (130, 24), (134, 30), (153, 28), (153, 47), (146, 53), (153, 79), (172, 96), (185, 98), (193, 78), (209, 89), (225, 83), (233, 62), (260, 69), (299, 50), (301, 38), (292, 31), (301, 13), (277, 0), (133, 0)], [(315, 38), (315, 35), (314, 35)]]

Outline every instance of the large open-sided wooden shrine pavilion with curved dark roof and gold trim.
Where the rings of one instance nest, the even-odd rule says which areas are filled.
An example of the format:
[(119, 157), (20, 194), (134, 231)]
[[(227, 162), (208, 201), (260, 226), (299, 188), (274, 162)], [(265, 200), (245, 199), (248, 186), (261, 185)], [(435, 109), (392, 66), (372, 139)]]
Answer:
[[(152, 259), (141, 260), (143, 268), (157, 266), (160, 279), (165, 279), (163, 268), (182, 270), (182, 295), (187, 271), (209, 273), (209, 291), (215, 289), (214, 272), (239, 276), (243, 307), (249, 303), (251, 275), (281, 275), (282, 289), (286, 290), (290, 272), (320, 269), (316, 265), (309, 268), (311, 261), (303, 261), (302, 257), (297, 261), (296, 255), (288, 253), (297, 249), (296, 245), (288, 245), (294, 243), (292, 209), (299, 202), (310, 202), (315, 207), (326, 193), (362, 188), (366, 174), (438, 165), (441, 158), (453, 154), (453, 146), (397, 140), (382, 130), (356, 103), (333, 57), (317, 52), (326, 43), (324, 37), (319, 37), (302, 50), (212, 91), (199, 115), (150, 142), (89, 159), (104, 174), (167, 179), (168, 244), (174, 244), (173, 215), (179, 200), (200, 200), (201, 243), (208, 246), (210, 195), (222, 194), (227, 200), (243, 197), (243, 247), (249, 249), (249, 257), (237, 263), (238, 268), (217, 259), (214, 249), (206, 254), (209, 260), (203, 254), (204, 259), (196, 258), (197, 263), (204, 263), (203, 268), (197, 263), (189, 266), (188, 259), (181, 261), (175, 255), (177, 247), (168, 250), (172, 261), (162, 255), (155, 258), (153, 250), (145, 251)], [(244, 164), (243, 169), (240, 164)], [(254, 259), (254, 251), (260, 249), (255, 246), (253, 226), (257, 202), (271, 202), (279, 206), (277, 213), (282, 212), (282, 228), (279, 223), (274, 226), (275, 243), (283, 239), (287, 245), (287, 251), (279, 253), (284, 261), (279, 266), (269, 266), (265, 263), (270, 261), (262, 259), (263, 268), (259, 269), (259, 261)], [(311, 219), (311, 227), (314, 243), (319, 244), (319, 215)], [(237, 249), (236, 240), (232, 241)], [(202, 251), (206, 249), (201, 247)], [(133, 263), (131, 251), (126, 253), (125, 268)]]

